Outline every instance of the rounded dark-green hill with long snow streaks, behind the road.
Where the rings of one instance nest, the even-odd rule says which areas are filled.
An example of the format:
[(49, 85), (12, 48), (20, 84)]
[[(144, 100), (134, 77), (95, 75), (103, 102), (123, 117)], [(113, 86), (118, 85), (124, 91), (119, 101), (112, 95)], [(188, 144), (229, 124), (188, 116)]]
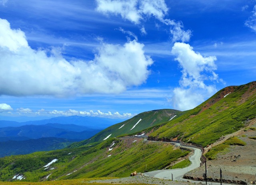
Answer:
[(177, 115), (176, 117), (178, 117), (180, 114), (182, 114), (181, 111), (173, 109), (161, 109), (142, 112), (134, 116), (133, 118), (130, 118), (129, 120), (114, 124), (106, 128), (105, 130), (102, 130), (101, 132), (90, 138), (90, 140), (74, 143), (70, 147), (74, 148), (87, 143), (103, 141), (108, 136), (109, 138), (113, 138), (120, 135), (125, 136), (128, 134), (137, 133), (147, 128), (167, 122), (168, 120), (173, 118), (173, 116)]

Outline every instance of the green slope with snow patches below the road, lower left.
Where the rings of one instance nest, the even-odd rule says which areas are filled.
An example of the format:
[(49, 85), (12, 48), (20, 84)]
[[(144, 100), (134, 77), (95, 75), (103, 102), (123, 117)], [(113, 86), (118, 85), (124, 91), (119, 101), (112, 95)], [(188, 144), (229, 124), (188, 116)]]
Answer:
[[(109, 138), (97, 146), (0, 158), (0, 181), (126, 177), (162, 169), (188, 151), (142, 138)], [(15, 177), (15, 178), (14, 178)], [(14, 179), (13, 179), (14, 178)]]

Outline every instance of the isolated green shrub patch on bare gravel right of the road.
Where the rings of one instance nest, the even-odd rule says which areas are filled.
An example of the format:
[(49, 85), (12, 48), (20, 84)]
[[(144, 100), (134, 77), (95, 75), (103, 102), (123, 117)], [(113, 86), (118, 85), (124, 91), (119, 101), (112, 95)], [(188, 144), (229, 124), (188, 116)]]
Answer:
[(206, 157), (209, 160), (216, 159), (217, 154), (225, 154), (229, 151), (230, 145), (238, 145), (238, 146), (245, 146), (246, 142), (240, 140), (237, 137), (232, 137), (228, 140), (226, 140), (224, 143), (214, 146), (210, 151), (206, 153)]

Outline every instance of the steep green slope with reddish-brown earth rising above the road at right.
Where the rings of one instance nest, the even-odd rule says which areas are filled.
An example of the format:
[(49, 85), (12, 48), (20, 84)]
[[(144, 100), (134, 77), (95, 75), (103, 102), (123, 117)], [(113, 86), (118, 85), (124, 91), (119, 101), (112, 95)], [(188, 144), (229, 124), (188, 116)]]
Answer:
[(178, 138), (207, 146), (256, 119), (256, 82), (226, 87), (182, 116), (156, 129), (151, 138)]

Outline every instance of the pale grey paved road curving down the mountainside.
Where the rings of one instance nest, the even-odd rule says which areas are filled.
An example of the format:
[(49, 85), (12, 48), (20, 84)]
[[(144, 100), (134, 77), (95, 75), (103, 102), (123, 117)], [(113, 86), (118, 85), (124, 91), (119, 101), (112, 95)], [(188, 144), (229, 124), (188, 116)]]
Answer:
[[(175, 144), (176, 146), (180, 146), (180, 144), (178, 143), (175, 143)], [(173, 180), (179, 180), (179, 181), (182, 180), (181, 178), (185, 173), (200, 167), (200, 162), (201, 162), (200, 157), (202, 155), (201, 150), (198, 148), (185, 147), (185, 146), (182, 146), (182, 148), (189, 148), (194, 150), (194, 155), (189, 157), (189, 160), (191, 161), (190, 166), (184, 167), (184, 168), (177, 168), (177, 169), (155, 170), (155, 171), (146, 172), (144, 174), (151, 177), (160, 178), (160, 179), (172, 179), (172, 175), (173, 175)]]

